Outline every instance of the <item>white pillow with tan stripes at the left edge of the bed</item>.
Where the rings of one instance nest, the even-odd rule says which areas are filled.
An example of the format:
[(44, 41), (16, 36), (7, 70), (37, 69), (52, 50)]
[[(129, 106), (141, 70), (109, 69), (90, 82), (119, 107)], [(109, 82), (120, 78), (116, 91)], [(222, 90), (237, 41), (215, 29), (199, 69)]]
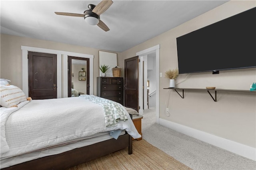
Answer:
[(26, 101), (26, 95), (17, 86), (0, 86), (0, 104), (3, 107), (14, 107), (20, 102)]

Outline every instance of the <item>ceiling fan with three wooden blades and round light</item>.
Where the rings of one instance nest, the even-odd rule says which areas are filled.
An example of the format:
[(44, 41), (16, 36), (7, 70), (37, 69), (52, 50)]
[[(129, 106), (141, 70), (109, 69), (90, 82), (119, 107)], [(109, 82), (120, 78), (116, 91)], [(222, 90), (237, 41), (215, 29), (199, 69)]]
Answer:
[(100, 14), (105, 12), (113, 4), (112, 0), (102, 0), (98, 5), (89, 4), (89, 10), (84, 11), (84, 14), (74, 14), (66, 12), (54, 12), (57, 15), (84, 17), (84, 20), (90, 25), (98, 25), (104, 31), (109, 31), (108, 26), (100, 20)]

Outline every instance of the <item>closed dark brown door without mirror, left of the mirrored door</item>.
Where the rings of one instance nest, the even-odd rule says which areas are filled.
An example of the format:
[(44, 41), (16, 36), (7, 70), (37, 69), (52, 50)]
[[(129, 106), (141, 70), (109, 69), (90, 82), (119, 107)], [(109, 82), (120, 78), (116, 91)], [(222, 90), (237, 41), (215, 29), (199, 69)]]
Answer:
[(28, 52), (28, 89), (33, 100), (57, 98), (57, 55)]

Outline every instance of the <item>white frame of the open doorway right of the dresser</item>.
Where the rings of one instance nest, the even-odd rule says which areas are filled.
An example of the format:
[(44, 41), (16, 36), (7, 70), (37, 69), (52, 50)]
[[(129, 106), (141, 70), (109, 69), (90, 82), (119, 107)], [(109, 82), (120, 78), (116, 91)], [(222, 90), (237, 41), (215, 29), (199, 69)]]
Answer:
[(142, 87), (142, 78), (140, 77), (143, 77), (143, 71), (142, 71), (142, 61), (141, 60), (141, 57), (143, 59), (143, 56), (149, 54), (149, 53), (153, 53), (153, 52), (156, 52), (156, 123), (159, 124), (159, 49), (160, 49), (160, 45), (156, 45), (154, 47), (150, 47), (148, 49), (145, 49), (143, 51), (140, 51), (138, 53), (136, 53), (137, 56), (139, 56), (139, 59), (140, 59), (140, 64), (139, 64), (139, 106), (140, 109), (139, 109), (139, 113), (143, 115), (143, 98), (142, 98), (142, 95), (143, 95), (143, 87)]

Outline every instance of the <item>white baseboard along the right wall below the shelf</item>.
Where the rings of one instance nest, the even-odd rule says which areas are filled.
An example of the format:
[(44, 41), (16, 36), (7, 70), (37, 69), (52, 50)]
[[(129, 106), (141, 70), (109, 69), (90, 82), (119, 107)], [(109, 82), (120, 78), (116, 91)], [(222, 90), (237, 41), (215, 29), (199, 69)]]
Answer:
[(178, 131), (180, 133), (183, 133), (185, 135), (204, 141), (206, 143), (210, 143), (211, 145), (214, 145), (216, 147), (220, 147), (222, 149), (228, 150), (235, 154), (239, 154), (246, 158), (256, 160), (256, 149), (253, 147), (249, 147), (241, 143), (230, 141), (228, 139), (224, 139), (222, 137), (218, 137), (210, 133), (199, 131), (191, 127), (180, 125), (178, 123), (174, 123), (164, 119), (159, 119), (159, 124), (170, 129), (173, 129), (175, 131)]

